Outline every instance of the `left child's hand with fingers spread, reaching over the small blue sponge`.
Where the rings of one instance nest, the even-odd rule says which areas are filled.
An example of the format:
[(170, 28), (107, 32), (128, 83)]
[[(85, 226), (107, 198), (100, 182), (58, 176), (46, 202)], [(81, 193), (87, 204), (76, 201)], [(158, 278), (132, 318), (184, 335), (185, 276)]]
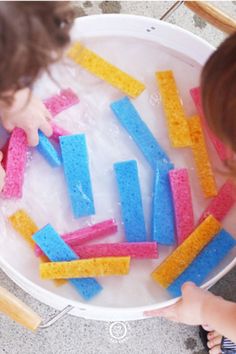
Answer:
[(38, 129), (46, 136), (52, 135), (51, 114), (39, 98), (30, 94), (28, 88), (17, 91), (13, 104), (1, 105), (0, 110), (4, 128), (8, 131), (15, 127), (22, 128), (30, 146), (38, 145)]

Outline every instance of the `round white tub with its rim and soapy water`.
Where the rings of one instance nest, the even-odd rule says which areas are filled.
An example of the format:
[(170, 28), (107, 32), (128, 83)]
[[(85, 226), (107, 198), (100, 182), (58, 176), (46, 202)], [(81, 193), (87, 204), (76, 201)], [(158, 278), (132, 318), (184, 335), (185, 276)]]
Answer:
[[(126, 15), (80, 18), (75, 23), (72, 37), (145, 82), (147, 89), (134, 100), (134, 104), (176, 167), (189, 168), (197, 220), (208, 201), (202, 196), (190, 149), (170, 147), (154, 73), (165, 69), (174, 71), (186, 114), (191, 116), (196, 110), (189, 89), (199, 84), (201, 67), (214, 48), (179, 27), (150, 18)], [(1, 201), (0, 204), (0, 265), (27, 293), (58, 310), (72, 305), (74, 309), (71, 313), (85, 318), (115, 321), (142, 319), (143, 311), (165, 307), (177, 300), (171, 299), (150, 277), (154, 267), (171, 252), (171, 247), (160, 247), (158, 260), (132, 261), (127, 277), (100, 278), (103, 292), (86, 303), (69, 284), (56, 288), (52, 282), (39, 279), (38, 260), (5, 221), (7, 215), (23, 207), (39, 227), (51, 222), (59, 233), (64, 233), (115, 217), (119, 223), (119, 233), (107, 238), (106, 242), (121, 241), (123, 229), (112, 164), (136, 159), (149, 229), (152, 172), (109, 109), (109, 103), (123, 95), (66, 61), (55, 65), (52, 72), (60, 87), (44, 76), (37, 83), (35, 91), (42, 98), (67, 87), (78, 93), (81, 100), (79, 105), (64, 111), (56, 119), (65, 129), (87, 135), (97, 214), (74, 220), (62, 170), (52, 169), (34, 151), (33, 158), (30, 157), (28, 163), (23, 199)], [(220, 167), (220, 161), (210, 143), (209, 152), (214, 168)], [(217, 175), (218, 186), (221, 186), (223, 181), (224, 178)], [(235, 234), (236, 227), (234, 212), (235, 208), (223, 223), (232, 234)], [(235, 255), (234, 251), (226, 257), (204, 287), (212, 286), (235, 265)]]

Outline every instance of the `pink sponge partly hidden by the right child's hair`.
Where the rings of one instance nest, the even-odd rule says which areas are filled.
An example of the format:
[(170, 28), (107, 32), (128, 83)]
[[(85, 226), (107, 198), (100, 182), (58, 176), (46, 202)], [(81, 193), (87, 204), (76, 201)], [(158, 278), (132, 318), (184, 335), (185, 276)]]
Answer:
[(202, 118), (203, 125), (207, 131), (207, 134), (212, 142), (212, 144), (215, 147), (215, 150), (217, 154), (219, 155), (219, 158), (222, 161), (227, 160), (230, 157), (230, 151), (224, 146), (224, 144), (220, 141), (219, 138), (217, 138), (212, 131), (209, 129), (206, 120), (204, 118), (204, 113), (202, 109), (202, 102), (201, 102), (201, 92), (200, 92), (200, 87), (195, 87), (190, 90), (190, 94), (192, 96), (192, 99), (195, 103), (195, 106), (197, 108), (198, 114)]

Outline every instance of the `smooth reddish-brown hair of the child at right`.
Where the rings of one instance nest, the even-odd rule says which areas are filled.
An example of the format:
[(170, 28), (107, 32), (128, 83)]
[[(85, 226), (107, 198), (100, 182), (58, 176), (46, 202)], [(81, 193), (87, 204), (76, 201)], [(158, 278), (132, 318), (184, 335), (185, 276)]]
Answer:
[[(236, 33), (210, 56), (201, 76), (202, 103), (210, 129), (236, 152)], [(236, 161), (226, 161), (236, 176)]]

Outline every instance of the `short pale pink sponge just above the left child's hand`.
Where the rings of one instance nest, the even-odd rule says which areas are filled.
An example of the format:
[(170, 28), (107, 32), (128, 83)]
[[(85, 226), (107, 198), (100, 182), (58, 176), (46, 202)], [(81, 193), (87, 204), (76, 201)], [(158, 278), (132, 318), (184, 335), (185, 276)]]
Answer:
[(59, 95), (44, 100), (45, 106), (53, 117), (76, 103), (79, 103), (79, 98), (71, 89), (61, 90)]

